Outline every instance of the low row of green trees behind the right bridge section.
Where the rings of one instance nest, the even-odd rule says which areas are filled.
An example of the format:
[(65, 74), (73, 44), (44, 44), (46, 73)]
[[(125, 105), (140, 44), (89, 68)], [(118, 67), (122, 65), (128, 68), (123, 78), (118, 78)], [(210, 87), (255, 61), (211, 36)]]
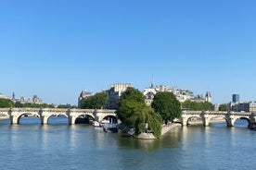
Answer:
[(198, 103), (198, 102), (192, 102), (188, 100), (182, 103), (182, 107), (189, 110), (194, 110), (194, 111), (203, 111), (203, 110), (212, 111), (214, 109), (214, 106), (212, 103), (209, 103), (209, 102)]

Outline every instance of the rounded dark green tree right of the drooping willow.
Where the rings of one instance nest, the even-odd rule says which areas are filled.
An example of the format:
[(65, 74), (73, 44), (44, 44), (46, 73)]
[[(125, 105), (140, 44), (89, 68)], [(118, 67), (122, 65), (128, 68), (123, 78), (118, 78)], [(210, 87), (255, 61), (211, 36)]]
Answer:
[(173, 92), (158, 92), (151, 104), (155, 112), (159, 113), (167, 123), (181, 115), (181, 103), (176, 99)]

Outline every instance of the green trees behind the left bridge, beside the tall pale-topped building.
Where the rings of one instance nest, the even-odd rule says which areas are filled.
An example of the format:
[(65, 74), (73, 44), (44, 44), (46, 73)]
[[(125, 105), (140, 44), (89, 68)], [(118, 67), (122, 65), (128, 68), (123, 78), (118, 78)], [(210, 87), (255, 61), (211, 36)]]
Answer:
[(108, 93), (106, 91), (97, 92), (93, 96), (83, 99), (81, 108), (83, 109), (105, 109), (108, 101)]

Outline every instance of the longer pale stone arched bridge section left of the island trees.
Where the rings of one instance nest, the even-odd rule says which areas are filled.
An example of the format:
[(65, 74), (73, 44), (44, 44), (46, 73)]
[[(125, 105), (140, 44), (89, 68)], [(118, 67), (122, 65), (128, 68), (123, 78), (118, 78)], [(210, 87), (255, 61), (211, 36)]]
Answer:
[(8, 117), (11, 124), (19, 124), (22, 116), (40, 117), (41, 124), (48, 124), (50, 116), (64, 115), (68, 118), (69, 124), (75, 124), (75, 120), (81, 116), (90, 116), (97, 122), (105, 117), (116, 117), (115, 110), (103, 109), (59, 109), (59, 108), (1, 108), (0, 115)]

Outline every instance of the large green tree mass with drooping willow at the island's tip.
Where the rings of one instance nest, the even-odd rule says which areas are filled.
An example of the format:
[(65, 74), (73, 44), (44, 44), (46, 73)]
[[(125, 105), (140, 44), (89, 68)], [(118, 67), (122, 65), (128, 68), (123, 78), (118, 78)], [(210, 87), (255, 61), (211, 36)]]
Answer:
[(127, 88), (122, 93), (117, 115), (127, 127), (135, 128), (135, 135), (150, 130), (155, 137), (159, 138), (161, 133), (161, 117), (145, 103), (145, 96), (134, 88)]

